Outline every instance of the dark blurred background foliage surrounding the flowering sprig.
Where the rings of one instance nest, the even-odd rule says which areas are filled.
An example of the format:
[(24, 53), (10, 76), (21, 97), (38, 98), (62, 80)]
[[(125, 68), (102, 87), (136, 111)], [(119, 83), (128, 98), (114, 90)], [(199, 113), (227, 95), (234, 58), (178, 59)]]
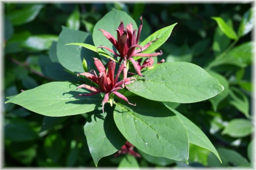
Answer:
[[(184, 57), (185, 61), (190, 61), (204, 68), (216, 55), (212, 49), (212, 42), (217, 24), (211, 17), (220, 16), (225, 21), (232, 20), (234, 30), (237, 31), (241, 17), (252, 6), (252, 4), (245, 3), (51, 3), (42, 4), (38, 15), (31, 21), (21, 24), (12, 23), (10, 19), (12, 14), (15, 11), (26, 9), (30, 5), (33, 4), (4, 3), (3, 86), (5, 97), (18, 94), (21, 90), (32, 89), (38, 85), (56, 81), (53, 76), (45, 74), (42, 65), (47, 61), (41, 58), (42, 56), (49, 56), (52, 40), (57, 40), (57, 36), (62, 31), (61, 26), (67, 25), (67, 20), (75, 9), (80, 12), (79, 30), (87, 32), (92, 32), (96, 22), (111, 8), (125, 11), (137, 22), (137, 25), (139, 25), (139, 17), (142, 15), (144, 26), (141, 40), (154, 31), (177, 22), (171, 37), (160, 47), (163, 55), (159, 56), (158, 60), (163, 58), (168, 60), (168, 58), (170, 59), (168, 55), (172, 54), (177, 57)], [(22, 20), (24, 15), (22, 13), (18, 15)], [(36, 44), (35, 41), (27, 43), (27, 39), (34, 35), (47, 35), (44, 41), (39, 42), (42, 46), (33, 46), (33, 43)], [(251, 36), (249, 33), (242, 37), (236, 46), (251, 41)], [(241, 68), (233, 65), (221, 65), (213, 68), (213, 70), (225, 76), (231, 85), (232, 77), (238, 76)], [(250, 83), (252, 81), (251, 67), (244, 68), (244, 72), (243, 80)], [(243, 92), (247, 95), (250, 103), (250, 89), (243, 89)], [(218, 106), (217, 112), (213, 111), (209, 101), (181, 104), (177, 110), (199, 126), (216, 149), (230, 149), (239, 153), (242, 158), (248, 159), (247, 147), (251, 141), (250, 136), (236, 138), (221, 134), (222, 130), (220, 129), (223, 129), (225, 123), (232, 119), (245, 118), (239, 110), (229, 104), (229, 101), (230, 97), (225, 98)], [(83, 132), (84, 123), (88, 121), (88, 114), (65, 117), (53, 128), (42, 130), (42, 121), (46, 119), (43, 115), (32, 113), (12, 103), (5, 104), (4, 109), (3, 157), (5, 167), (94, 166)], [(211, 133), (214, 126), (217, 131)], [(235, 143), (236, 140), (240, 142)], [(211, 155), (203, 156), (203, 159), (207, 157), (208, 161), (190, 160), (188, 166), (205, 166), (203, 162), (208, 162), (208, 166), (237, 166), (232, 161), (228, 161), (229, 163), (224, 161), (222, 165), (213, 163), (211, 162)], [(114, 158), (113, 155), (110, 155), (102, 158), (99, 161), (99, 166), (118, 166), (120, 159), (121, 157)], [(214, 158), (212, 159), (214, 160)], [(140, 166), (156, 166), (143, 157), (138, 158), (137, 161)], [(183, 162), (173, 162), (168, 166), (187, 165)]]

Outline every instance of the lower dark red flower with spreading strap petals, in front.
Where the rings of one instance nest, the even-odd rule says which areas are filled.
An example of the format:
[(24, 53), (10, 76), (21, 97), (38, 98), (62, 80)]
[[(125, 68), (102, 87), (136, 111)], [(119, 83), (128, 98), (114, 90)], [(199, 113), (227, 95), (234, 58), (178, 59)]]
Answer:
[(106, 102), (108, 102), (108, 100), (110, 99), (111, 93), (114, 93), (119, 98), (121, 98), (124, 101), (128, 102), (129, 104), (135, 106), (136, 104), (130, 103), (128, 101), (128, 99), (123, 94), (117, 92), (117, 90), (123, 89), (124, 85), (128, 85), (128, 84), (132, 83), (133, 81), (136, 81), (136, 78), (133, 78), (133, 77), (128, 77), (128, 78), (124, 77), (123, 80), (118, 81), (120, 73), (125, 68), (124, 63), (120, 65), (118, 72), (117, 72), (116, 76), (114, 77), (115, 65), (116, 65), (115, 61), (110, 60), (110, 62), (108, 64), (108, 72), (106, 72), (106, 68), (102, 64), (101, 60), (99, 60), (97, 58), (93, 58), (93, 59), (94, 59), (94, 64), (97, 67), (97, 70), (100, 72), (99, 75), (97, 75), (96, 72), (94, 70), (92, 70), (94, 72), (94, 75), (91, 74), (90, 72), (83, 72), (83, 73), (78, 73), (77, 76), (83, 75), (83, 76), (89, 78), (90, 80), (97, 83), (100, 88), (92, 87), (90, 85), (85, 85), (85, 84), (79, 85), (77, 87), (77, 89), (85, 88), (85, 89), (91, 90), (92, 93), (79, 94), (77, 96), (92, 96), (92, 95), (95, 95), (95, 94), (101, 93), (101, 92), (106, 93), (104, 96), (104, 99), (102, 101), (103, 113), (104, 113), (104, 104)]

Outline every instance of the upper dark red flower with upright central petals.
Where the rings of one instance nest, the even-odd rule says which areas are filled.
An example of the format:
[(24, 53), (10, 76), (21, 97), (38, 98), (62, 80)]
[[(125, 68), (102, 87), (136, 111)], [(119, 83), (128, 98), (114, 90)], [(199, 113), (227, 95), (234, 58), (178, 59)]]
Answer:
[[(144, 47), (141, 47), (140, 45), (138, 45), (140, 34), (141, 34), (141, 29), (143, 26), (142, 17), (140, 17), (140, 20), (141, 20), (141, 25), (138, 28), (137, 36), (136, 36), (137, 30), (133, 30), (132, 23), (128, 24), (126, 26), (126, 28), (124, 28), (124, 23), (122, 20), (121, 20), (121, 23), (120, 23), (118, 29), (116, 29), (117, 40), (115, 39), (115, 37), (113, 35), (111, 35), (106, 30), (99, 29), (102, 31), (103, 35), (114, 45), (114, 47), (119, 52), (119, 54), (105, 46), (99, 46), (98, 48), (105, 48), (106, 50), (113, 53), (115, 55), (115, 57), (119, 56), (120, 57), (119, 62), (124, 60), (124, 64), (126, 64), (126, 60), (130, 60), (133, 64), (136, 72), (138, 73), (138, 75), (142, 76), (141, 71), (140, 71), (141, 69), (138, 67), (138, 64), (136, 63), (136, 61), (134, 59), (132, 59), (132, 57), (134, 57), (134, 56), (153, 57), (153, 56), (162, 55), (163, 52), (160, 50), (160, 52), (156, 52), (156, 53), (152, 53), (152, 54), (140, 53), (141, 51), (146, 50), (150, 46), (151, 43), (153, 43), (154, 41), (157, 41), (157, 39), (158, 39), (157, 38), (157, 39), (147, 43)], [(139, 49), (136, 50), (136, 48), (139, 48)], [(126, 75), (127, 75), (127, 71), (126, 72), (124, 71), (124, 76), (126, 77)]]

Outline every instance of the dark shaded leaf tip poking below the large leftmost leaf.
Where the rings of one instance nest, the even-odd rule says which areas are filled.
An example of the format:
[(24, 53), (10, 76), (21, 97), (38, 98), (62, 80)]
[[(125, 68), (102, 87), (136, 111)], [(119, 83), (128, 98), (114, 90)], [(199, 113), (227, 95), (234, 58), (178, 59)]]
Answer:
[(54, 126), (64, 122), (67, 118), (69, 118), (69, 116), (62, 116), (62, 117), (44, 116), (40, 132), (44, 132), (50, 128), (53, 128)]

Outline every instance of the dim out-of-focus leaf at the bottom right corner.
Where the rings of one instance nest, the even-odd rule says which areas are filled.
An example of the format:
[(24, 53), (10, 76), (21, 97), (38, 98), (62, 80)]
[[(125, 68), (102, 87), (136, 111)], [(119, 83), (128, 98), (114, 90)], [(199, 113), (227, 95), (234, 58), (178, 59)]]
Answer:
[(208, 166), (226, 167), (230, 166), (229, 162), (232, 163), (233, 166), (242, 166), (248, 163), (246, 158), (244, 158), (242, 155), (240, 155), (238, 152), (234, 150), (219, 148), (217, 149), (217, 151), (220, 154), (222, 164), (216, 159), (216, 157), (213, 157), (212, 154), (210, 153), (208, 157)]

